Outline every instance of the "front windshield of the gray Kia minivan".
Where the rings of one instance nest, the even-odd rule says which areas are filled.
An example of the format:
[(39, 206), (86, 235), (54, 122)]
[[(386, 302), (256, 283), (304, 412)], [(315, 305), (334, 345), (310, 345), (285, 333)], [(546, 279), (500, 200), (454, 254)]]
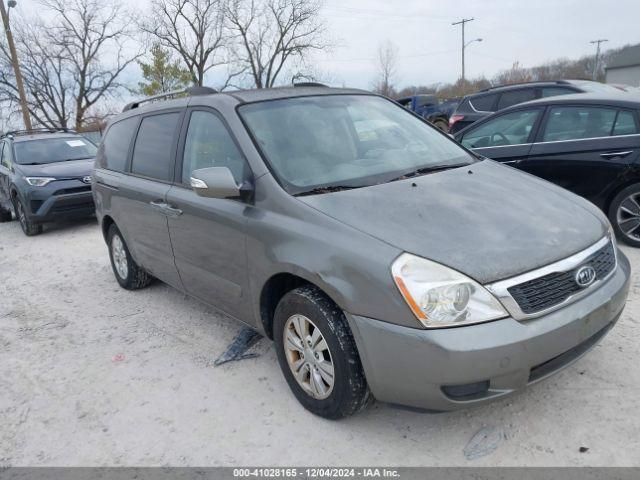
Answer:
[(386, 183), (476, 161), (401, 106), (373, 95), (269, 100), (238, 111), (293, 195)]

